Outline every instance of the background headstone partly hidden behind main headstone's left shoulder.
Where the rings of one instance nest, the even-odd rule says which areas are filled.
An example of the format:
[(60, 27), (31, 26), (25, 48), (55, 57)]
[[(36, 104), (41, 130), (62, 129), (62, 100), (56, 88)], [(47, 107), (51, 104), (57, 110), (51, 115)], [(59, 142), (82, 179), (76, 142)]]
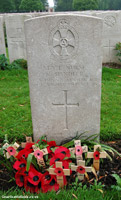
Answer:
[(31, 15), (7, 15), (5, 17), (10, 62), (26, 59), (24, 21)]

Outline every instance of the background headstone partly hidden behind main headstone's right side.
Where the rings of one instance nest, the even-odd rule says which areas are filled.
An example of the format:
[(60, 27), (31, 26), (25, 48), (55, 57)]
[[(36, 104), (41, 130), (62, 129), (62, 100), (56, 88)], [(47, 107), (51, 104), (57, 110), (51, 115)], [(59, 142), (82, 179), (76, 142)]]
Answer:
[(118, 42), (121, 42), (121, 12), (103, 11), (95, 12), (93, 15), (103, 20), (103, 63), (120, 63), (115, 47)]

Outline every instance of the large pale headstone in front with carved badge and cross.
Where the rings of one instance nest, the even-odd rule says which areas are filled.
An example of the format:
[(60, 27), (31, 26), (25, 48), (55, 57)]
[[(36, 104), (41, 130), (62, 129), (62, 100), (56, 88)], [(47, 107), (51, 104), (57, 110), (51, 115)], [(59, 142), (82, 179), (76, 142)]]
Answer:
[(35, 141), (100, 131), (102, 20), (76, 14), (25, 22)]

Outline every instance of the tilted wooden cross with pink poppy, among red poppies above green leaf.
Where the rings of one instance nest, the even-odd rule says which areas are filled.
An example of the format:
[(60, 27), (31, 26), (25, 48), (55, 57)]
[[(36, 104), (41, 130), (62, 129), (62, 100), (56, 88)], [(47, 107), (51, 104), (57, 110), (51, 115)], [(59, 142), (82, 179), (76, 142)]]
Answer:
[(35, 145), (32, 145), (32, 148), (34, 150), (34, 156), (37, 159), (38, 165), (40, 167), (42, 166), (43, 168), (45, 168), (45, 162), (44, 162), (43, 156), (48, 154), (47, 148), (40, 149), (39, 147), (37, 147)]

